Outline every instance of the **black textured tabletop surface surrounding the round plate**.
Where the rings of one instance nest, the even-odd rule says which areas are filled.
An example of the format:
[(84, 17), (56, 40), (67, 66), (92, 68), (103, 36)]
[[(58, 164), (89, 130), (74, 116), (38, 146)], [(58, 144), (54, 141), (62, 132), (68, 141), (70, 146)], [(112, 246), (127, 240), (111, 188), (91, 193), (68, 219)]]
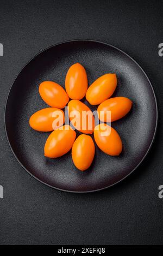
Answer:
[[(1, 0), (0, 7), (0, 244), (163, 244), (163, 2)], [(17, 73), (36, 53), (71, 39), (102, 40), (129, 53), (149, 76), (159, 106), (158, 133), (140, 168), (92, 194), (60, 192), (34, 180), (4, 132), (5, 100)]]

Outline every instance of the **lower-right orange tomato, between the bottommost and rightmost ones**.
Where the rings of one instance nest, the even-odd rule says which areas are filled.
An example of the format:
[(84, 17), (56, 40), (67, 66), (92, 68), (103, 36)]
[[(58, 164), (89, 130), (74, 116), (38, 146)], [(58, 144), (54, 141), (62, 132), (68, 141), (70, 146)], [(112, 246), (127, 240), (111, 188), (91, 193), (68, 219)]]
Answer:
[[(110, 128), (110, 134), (104, 135), (104, 130)], [(119, 156), (122, 152), (122, 141), (120, 135), (108, 124), (101, 123), (94, 129), (94, 138), (97, 146), (110, 156)]]

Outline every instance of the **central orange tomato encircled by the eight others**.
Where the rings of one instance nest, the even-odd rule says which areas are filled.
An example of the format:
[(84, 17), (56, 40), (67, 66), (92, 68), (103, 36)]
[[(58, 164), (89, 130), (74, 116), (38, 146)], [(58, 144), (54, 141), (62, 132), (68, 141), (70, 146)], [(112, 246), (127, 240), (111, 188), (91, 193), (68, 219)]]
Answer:
[[(85, 118), (86, 111), (89, 116)], [(74, 114), (74, 115), (73, 115)], [(79, 116), (78, 116), (79, 114)], [(80, 100), (72, 99), (68, 102), (68, 115), (73, 126), (82, 133), (92, 134), (95, 127), (95, 118), (90, 108)], [(74, 117), (77, 122), (73, 123)], [(90, 118), (90, 119), (89, 119)], [(84, 125), (85, 124), (85, 125)]]

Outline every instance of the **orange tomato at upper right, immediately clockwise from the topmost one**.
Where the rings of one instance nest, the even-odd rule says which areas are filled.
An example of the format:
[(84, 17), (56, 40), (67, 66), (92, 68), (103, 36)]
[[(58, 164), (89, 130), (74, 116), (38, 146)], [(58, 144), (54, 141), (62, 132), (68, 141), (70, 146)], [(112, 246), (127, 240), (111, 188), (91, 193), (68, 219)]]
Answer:
[(117, 87), (116, 74), (105, 74), (88, 88), (86, 99), (91, 105), (99, 105), (109, 99)]

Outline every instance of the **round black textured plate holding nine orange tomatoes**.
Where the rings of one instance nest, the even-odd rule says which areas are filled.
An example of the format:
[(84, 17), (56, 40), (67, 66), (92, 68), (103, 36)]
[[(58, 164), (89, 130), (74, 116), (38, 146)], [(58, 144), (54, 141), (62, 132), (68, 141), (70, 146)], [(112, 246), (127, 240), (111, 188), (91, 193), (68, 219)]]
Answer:
[[(133, 101), (130, 113), (112, 123), (123, 142), (121, 156), (108, 156), (96, 146), (95, 160), (85, 172), (74, 167), (71, 152), (58, 159), (45, 158), (43, 148), (49, 133), (35, 132), (28, 124), (34, 112), (47, 107), (39, 96), (40, 82), (52, 80), (65, 87), (66, 72), (76, 62), (85, 67), (89, 85), (105, 73), (116, 73), (114, 96)], [(14, 81), (5, 109), (7, 137), (18, 162), (42, 183), (69, 192), (92, 192), (127, 177), (149, 151), (157, 120), (155, 94), (142, 68), (116, 47), (92, 40), (54, 45), (34, 57)]]

